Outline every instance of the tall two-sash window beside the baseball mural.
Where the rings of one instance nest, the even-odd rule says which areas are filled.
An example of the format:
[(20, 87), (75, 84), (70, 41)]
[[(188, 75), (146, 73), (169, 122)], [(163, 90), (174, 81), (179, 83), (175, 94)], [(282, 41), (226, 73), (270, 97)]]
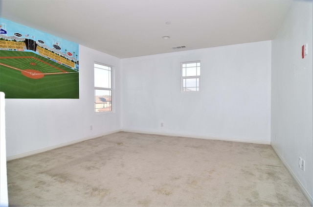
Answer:
[(94, 64), (94, 112), (112, 111), (112, 67)]

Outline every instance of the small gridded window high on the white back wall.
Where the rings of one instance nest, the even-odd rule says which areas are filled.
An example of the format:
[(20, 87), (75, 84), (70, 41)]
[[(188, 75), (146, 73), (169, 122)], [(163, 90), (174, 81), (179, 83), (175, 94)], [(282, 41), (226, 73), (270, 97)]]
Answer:
[(181, 82), (183, 92), (199, 92), (200, 61), (181, 63)]

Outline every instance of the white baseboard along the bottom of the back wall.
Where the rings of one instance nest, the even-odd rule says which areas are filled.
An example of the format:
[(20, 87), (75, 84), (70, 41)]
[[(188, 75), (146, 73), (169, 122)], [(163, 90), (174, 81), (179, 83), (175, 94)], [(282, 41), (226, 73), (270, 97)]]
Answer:
[(235, 141), (235, 142), (245, 142), (245, 143), (270, 145), (270, 141), (256, 141), (256, 140), (231, 139), (231, 138), (215, 138), (215, 137), (205, 137), (205, 136), (162, 133), (162, 132), (138, 131), (138, 130), (130, 130), (130, 129), (122, 129), (122, 131), (123, 132), (134, 132), (134, 133), (140, 133), (140, 134), (150, 134), (150, 135), (163, 135), (163, 136), (183, 137), (183, 138), (201, 138), (201, 139), (213, 139), (213, 140), (221, 140), (221, 141)]

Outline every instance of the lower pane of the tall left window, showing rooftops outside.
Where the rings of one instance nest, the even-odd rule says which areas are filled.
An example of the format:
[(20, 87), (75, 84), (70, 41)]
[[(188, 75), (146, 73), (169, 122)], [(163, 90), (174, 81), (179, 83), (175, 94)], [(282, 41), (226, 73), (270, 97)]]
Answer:
[(94, 110), (95, 112), (112, 111), (111, 90), (94, 90)]

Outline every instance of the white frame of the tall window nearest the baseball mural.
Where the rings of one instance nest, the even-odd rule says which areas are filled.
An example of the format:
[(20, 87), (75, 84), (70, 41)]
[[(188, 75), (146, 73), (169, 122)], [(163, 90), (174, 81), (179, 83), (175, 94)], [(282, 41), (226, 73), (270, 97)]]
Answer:
[[(104, 87), (96, 87), (95, 86), (95, 77), (94, 77), (94, 72), (95, 72), (95, 69), (96, 69), (96, 64), (97, 65), (100, 65), (100, 66), (104, 66), (104, 67), (109, 67), (111, 69), (111, 88), (104, 88)], [(101, 69), (101, 68), (97, 68), (97, 69)], [(114, 67), (111, 66), (111, 65), (108, 65), (108, 64), (104, 64), (104, 63), (99, 63), (99, 62), (94, 62), (93, 63), (93, 102), (94, 102), (94, 105), (93, 105), (93, 112), (95, 114), (108, 114), (108, 113), (113, 113), (114, 112), (114, 101), (113, 101), (113, 97), (114, 97)], [(110, 83), (109, 81), (109, 83)], [(110, 86), (109, 86), (110, 87)], [(110, 106), (110, 111), (97, 111), (96, 109), (105, 109), (104, 107), (103, 108), (96, 108), (96, 90), (103, 90), (103, 91), (110, 91), (111, 93), (111, 106)]]

